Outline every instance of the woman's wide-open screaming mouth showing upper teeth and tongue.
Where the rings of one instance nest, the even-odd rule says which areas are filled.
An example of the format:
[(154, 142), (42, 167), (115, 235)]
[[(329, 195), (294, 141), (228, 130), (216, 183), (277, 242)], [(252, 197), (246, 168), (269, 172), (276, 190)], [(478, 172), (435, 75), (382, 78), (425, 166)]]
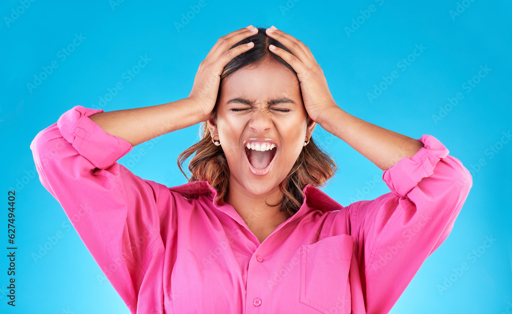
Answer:
[(249, 170), (255, 175), (267, 174), (272, 168), (277, 150), (275, 144), (270, 142), (247, 143), (245, 156)]

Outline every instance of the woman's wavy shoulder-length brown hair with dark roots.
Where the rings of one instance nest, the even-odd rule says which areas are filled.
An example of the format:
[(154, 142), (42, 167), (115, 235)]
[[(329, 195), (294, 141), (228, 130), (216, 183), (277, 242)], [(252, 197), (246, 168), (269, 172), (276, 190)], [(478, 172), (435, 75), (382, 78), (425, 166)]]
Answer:
[[(229, 61), (221, 74), (220, 84), (231, 73), (249, 65), (257, 66), (264, 60), (281, 62), (295, 75), (297, 74), (282, 58), (269, 52), (269, 45), (274, 45), (287, 52), (290, 51), (279, 41), (268, 37), (264, 28), (258, 28), (257, 34), (242, 39), (233, 47), (247, 44), (250, 41), (254, 43), (254, 47)], [(218, 95), (220, 94), (220, 86)], [(219, 97), (217, 98), (218, 100)], [(188, 169), (191, 173), (190, 179), (188, 179), (181, 166), (194, 153), (196, 155), (188, 164)], [(229, 166), (221, 146), (216, 146), (211, 141), (206, 123), (204, 123), (203, 138), (178, 156), (178, 167), (181, 173), (187, 177), (188, 182), (208, 181), (217, 190), (219, 204), (224, 204), (229, 193)], [(302, 193), (304, 186), (308, 183), (311, 183), (313, 186), (322, 186), (334, 175), (335, 171), (336, 163), (322, 149), (316, 146), (311, 137), (309, 144), (303, 147), (290, 173), (279, 185), (281, 192), (284, 194), (283, 200), (278, 204), (270, 206), (282, 204), (281, 212), (286, 212), (289, 216), (292, 216), (298, 211), (304, 201), (304, 193)]]

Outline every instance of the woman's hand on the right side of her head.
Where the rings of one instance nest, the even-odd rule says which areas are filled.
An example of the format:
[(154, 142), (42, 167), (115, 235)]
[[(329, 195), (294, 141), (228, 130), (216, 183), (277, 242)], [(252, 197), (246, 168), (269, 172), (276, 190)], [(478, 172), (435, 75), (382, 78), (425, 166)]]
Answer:
[(266, 33), (290, 50), (291, 53), (279, 47), (272, 49), (273, 45), (269, 47), (271, 52), (285, 60), (297, 72), (306, 111), (313, 121), (322, 125), (321, 121), (329, 109), (339, 108), (329, 91), (322, 68), (302, 41), (273, 26)]

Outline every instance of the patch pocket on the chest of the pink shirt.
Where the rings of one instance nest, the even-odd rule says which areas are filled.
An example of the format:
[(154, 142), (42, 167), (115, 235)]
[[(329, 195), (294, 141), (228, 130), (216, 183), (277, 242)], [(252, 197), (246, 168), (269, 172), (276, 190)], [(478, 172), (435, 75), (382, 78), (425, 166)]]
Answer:
[(300, 302), (321, 313), (350, 313), (353, 238), (339, 235), (301, 247)]

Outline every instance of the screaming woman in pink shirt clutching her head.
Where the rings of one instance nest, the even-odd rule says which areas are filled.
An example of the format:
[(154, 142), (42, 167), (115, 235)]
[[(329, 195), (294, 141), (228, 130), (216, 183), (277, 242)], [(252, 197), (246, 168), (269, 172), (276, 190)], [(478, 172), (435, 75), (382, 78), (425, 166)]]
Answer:
[[(179, 158), (195, 153), (187, 184), (169, 188), (116, 162), (200, 122), (203, 139)], [(311, 138), (316, 124), (383, 170), (391, 192), (343, 207), (318, 190), (336, 166)], [(274, 27), (221, 37), (187, 98), (75, 106), (31, 149), (42, 184), (133, 313), (387, 313), (472, 185), (433, 136), (340, 109), (308, 47)]]

